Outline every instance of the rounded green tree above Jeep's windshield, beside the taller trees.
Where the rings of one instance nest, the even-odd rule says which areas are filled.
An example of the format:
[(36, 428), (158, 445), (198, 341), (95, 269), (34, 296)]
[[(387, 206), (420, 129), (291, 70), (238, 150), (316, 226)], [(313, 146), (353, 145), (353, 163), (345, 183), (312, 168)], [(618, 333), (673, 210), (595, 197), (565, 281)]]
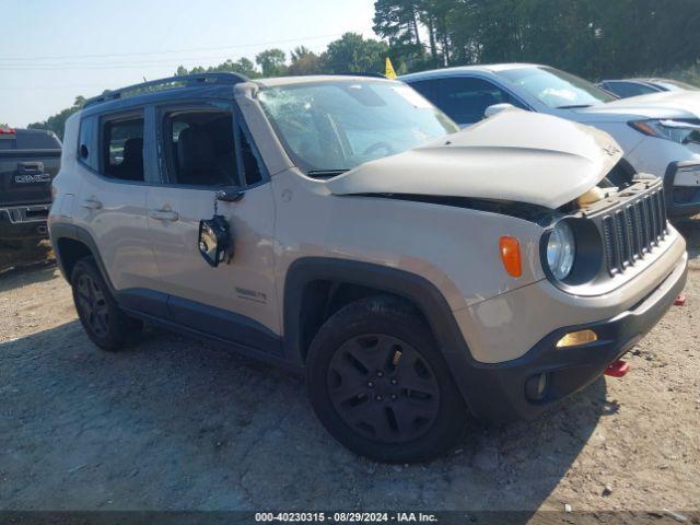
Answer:
[(325, 69), (330, 73), (384, 72), (389, 47), (385, 42), (364, 39), (357, 33), (346, 33), (328, 44), (323, 55)]

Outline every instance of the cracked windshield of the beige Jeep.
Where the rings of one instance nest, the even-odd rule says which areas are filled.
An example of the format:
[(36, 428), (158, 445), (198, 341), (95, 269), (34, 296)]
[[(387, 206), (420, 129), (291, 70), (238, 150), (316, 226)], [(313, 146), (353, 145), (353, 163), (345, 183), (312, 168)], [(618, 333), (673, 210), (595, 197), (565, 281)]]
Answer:
[(311, 176), (332, 176), (459, 128), (399, 82), (267, 88), (258, 98), (288, 153)]

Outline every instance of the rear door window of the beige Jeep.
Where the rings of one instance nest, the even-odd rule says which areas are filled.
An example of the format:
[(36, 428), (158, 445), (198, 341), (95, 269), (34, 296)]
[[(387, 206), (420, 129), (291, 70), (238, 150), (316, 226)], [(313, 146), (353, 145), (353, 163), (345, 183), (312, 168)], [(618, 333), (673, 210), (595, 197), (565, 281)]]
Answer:
[(105, 120), (101, 145), (105, 176), (143, 180), (143, 116)]

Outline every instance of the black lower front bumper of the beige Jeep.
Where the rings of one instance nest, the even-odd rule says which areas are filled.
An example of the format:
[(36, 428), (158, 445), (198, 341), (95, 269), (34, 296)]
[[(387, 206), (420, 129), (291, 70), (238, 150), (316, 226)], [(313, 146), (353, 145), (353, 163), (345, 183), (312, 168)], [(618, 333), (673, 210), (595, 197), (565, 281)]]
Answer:
[[(663, 317), (682, 291), (686, 278), (687, 258), (684, 257), (650, 294), (612, 318), (559, 328), (512, 361), (499, 364), (471, 362), (470, 370), (463, 376), (468, 384), (458, 385), (471, 412), (490, 422), (533, 419), (557, 401), (586, 387)], [(584, 329), (595, 331), (598, 340), (557, 348), (557, 342), (564, 335)], [(539, 400), (528, 399), (526, 385), (540, 374), (547, 374), (544, 396)]]

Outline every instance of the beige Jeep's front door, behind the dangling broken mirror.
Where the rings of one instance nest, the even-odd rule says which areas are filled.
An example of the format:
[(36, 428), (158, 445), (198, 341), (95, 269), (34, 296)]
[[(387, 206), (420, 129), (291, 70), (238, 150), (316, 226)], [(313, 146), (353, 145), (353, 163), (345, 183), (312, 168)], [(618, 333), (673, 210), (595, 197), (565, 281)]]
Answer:
[[(275, 202), (269, 177), (230, 102), (168, 105), (158, 112), (164, 183), (149, 191), (149, 226), (159, 290), (178, 324), (279, 353), (275, 289)], [(236, 202), (217, 202), (222, 189)], [(199, 221), (214, 210), (234, 253), (211, 268), (198, 248)]]

